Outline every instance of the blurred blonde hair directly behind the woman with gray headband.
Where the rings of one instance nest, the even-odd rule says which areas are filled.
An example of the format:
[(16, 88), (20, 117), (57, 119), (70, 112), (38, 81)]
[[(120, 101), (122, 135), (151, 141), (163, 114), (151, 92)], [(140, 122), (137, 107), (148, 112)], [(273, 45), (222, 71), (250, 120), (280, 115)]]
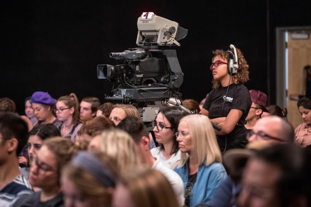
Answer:
[(107, 129), (101, 133), (100, 151), (113, 157), (119, 170), (130, 164), (137, 165), (133, 138), (121, 129)]

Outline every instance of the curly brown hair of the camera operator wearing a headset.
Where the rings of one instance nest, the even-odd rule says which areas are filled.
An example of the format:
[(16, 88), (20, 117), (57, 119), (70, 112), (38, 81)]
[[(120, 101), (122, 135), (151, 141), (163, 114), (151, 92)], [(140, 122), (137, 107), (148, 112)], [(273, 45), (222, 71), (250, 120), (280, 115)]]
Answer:
[[(238, 56), (239, 68), (238, 68), (237, 73), (232, 76), (232, 83), (235, 83), (235, 84), (245, 83), (249, 80), (248, 64), (241, 50), (239, 48), (235, 48), (235, 49), (236, 49), (236, 54)], [(229, 51), (233, 52), (233, 49), (230, 49)], [(213, 51), (213, 54), (214, 54), (214, 57), (212, 58), (212, 62), (214, 61), (214, 58), (216, 56), (220, 56), (222, 59), (227, 60), (227, 62), (230, 58), (229, 53), (225, 52), (224, 50), (215, 50)], [(213, 88), (218, 88), (221, 85), (219, 80), (213, 79), (212, 83), (213, 83)]]

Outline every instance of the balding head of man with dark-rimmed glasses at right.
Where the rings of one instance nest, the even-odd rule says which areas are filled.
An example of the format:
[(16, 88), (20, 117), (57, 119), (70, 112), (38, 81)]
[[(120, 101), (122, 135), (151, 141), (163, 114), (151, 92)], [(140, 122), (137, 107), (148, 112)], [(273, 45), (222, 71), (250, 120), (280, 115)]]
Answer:
[(259, 119), (250, 131), (248, 142), (269, 142), (271, 144), (294, 143), (294, 129), (279, 116), (270, 115)]

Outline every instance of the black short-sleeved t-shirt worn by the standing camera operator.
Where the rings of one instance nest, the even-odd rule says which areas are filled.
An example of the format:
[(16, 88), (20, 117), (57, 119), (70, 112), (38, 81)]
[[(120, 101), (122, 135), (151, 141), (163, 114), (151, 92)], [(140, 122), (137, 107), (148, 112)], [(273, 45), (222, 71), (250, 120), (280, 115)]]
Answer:
[[(231, 109), (239, 109), (243, 111), (243, 115), (234, 127), (231, 133), (227, 135), (217, 135), (217, 140), (234, 140), (245, 139), (244, 122), (252, 105), (252, 99), (248, 89), (243, 84), (230, 84), (227, 96), (227, 87), (220, 86), (213, 89), (207, 97), (203, 108), (209, 111), (209, 118), (215, 119), (219, 117), (227, 117)], [(226, 99), (226, 100), (225, 100)], [(222, 106), (225, 105), (222, 110)]]

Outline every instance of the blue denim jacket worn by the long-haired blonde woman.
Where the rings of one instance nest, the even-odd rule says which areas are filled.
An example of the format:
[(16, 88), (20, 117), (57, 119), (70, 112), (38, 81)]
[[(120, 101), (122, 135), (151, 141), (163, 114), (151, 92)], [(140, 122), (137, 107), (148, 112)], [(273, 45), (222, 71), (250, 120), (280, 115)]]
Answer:
[[(184, 190), (188, 182), (188, 161), (186, 164), (174, 169), (183, 179)], [(201, 164), (197, 171), (197, 181), (194, 183), (190, 196), (190, 206), (196, 206), (200, 203), (210, 203), (212, 196), (219, 184), (227, 177), (226, 170), (221, 163), (213, 162), (209, 166)]]

